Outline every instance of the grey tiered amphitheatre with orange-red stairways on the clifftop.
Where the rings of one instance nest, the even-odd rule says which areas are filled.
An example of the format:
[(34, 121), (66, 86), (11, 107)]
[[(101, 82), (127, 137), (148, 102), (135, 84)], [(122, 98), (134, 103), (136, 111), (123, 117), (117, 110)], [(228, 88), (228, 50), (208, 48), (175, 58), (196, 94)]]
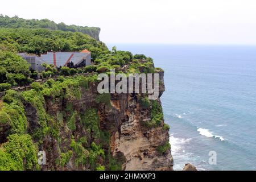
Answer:
[(40, 57), (34, 54), (18, 53), (28, 63), (31, 64), (31, 69), (42, 72), (44, 67), (43, 63), (53, 64), (55, 67), (84, 67), (91, 65), (91, 53), (84, 49), (81, 52), (69, 52), (69, 51), (48, 51), (46, 54), (42, 54)]

